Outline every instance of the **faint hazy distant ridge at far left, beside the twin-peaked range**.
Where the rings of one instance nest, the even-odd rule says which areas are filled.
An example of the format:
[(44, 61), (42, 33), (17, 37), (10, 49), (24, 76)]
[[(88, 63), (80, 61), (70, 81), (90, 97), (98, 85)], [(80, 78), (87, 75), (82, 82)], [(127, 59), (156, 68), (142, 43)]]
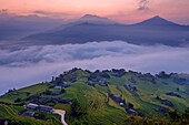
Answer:
[(0, 40), (19, 40), (32, 33), (50, 30), (62, 23), (62, 20), (38, 15), (0, 13)]

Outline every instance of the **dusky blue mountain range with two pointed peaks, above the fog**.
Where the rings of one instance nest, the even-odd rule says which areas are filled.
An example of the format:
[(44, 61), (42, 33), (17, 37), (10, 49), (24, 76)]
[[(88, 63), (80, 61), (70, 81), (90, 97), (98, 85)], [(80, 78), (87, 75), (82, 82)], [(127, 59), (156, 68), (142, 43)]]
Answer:
[[(86, 43), (91, 41), (122, 40), (133, 44), (188, 44), (189, 27), (180, 25), (160, 17), (136, 24), (119, 24), (107, 18), (87, 14), (69, 27), (53, 32), (32, 34), (23, 40), (40, 44)], [(40, 42), (39, 42), (40, 41)]]

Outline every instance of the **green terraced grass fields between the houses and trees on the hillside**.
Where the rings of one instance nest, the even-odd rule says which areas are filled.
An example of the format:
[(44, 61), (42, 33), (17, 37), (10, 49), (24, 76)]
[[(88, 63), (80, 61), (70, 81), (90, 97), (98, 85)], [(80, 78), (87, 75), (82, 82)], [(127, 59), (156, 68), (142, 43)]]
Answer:
[[(100, 86), (100, 81), (93, 82), (94, 86), (86, 84), (86, 82), (89, 81), (88, 79), (90, 75), (93, 76), (101, 73), (102, 72), (92, 73), (80, 69), (74, 69), (67, 72), (64, 75), (57, 77), (54, 82), (40, 83), (8, 92), (0, 96), (0, 117), (4, 117), (13, 122), (22, 122), (27, 125), (60, 124), (60, 116), (52, 114), (46, 114), (46, 119), (20, 116), (20, 113), (24, 111), (22, 105), (31, 102), (27, 98), (34, 95), (40, 95), (40, 97), (69, 98), (77, 102), (79, 105), (77, 111), (81, 113), (81, 115), (77, 117), (71, 116), (72, 106), (70, 104), (47, 104), (53, 106), (54, 108), (67, 111), (66, 121), (71, 125), (123, 125), (126, 118), (129, 116), (125, 108), (129, 103), (133, 105), (136, 111), (145, 116), (162, 116), (163, 114), (157, 111), (160, 106), (169, 110), (177, 108), (179, 111), (185, 111), (189, 107), (189, 95), (185, 93), (189, 90), (189, 84), (177, 84), (173, 82), (175, 75), (169, 75), (167, 79), (156, 76), (153, 77), (153, 82), (156, 82), (155, 84), (152, 81), (149, 81), (150, 77), (146, 74), (140, 74), (142, 76), (141, 79), (136, 72), (127, 72), (121, 76), (116, 76), (113, 71), (107, 71), (106, 74), (110, 77), (101, 76), (101, 80), (106, 80), (108, 82), (108, 86)], [(180, 77), (180, 74), (177, 76)], [(129, 79), (132, 79), (135, 82), (129, 82)], [(70, 84), (70, 87), (66, 88), (64, 93), (53, 96), (41, 94), (47, 90), (56, 92), (57, 90), (53, 87), (50, 88), (50, 86), (59, 84), (62, 81)], [(123, 86), (126, 83), (136, 86), (137, 91), (133, 92), (127, 90)], [(168, 92), (175, 92), (181, 97), (169, 96), (166, 94)], [(115, 96), (125, 100), (125, 107), (111, 100), (109, 94), (113, 94)], [(160, 96), (162, 100), (170, 101), (175, 107), (161, 104), (160, 101), (156, 100), (157, 96)], [(19, 102), (17, 102), (18, 98), (20, 100)], [(48, 119), (48, 117), (54, 118)]]

